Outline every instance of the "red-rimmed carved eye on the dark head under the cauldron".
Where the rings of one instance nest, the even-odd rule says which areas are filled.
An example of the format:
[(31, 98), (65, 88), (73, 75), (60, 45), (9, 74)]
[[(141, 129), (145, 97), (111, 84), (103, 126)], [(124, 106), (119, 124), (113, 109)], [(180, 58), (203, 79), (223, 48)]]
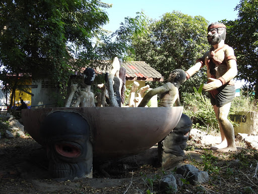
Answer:
[(67, 158), (77, 158), (81, 155), (81, 150), (69, 143), (56, 143), (55, 150), (58, 154)]

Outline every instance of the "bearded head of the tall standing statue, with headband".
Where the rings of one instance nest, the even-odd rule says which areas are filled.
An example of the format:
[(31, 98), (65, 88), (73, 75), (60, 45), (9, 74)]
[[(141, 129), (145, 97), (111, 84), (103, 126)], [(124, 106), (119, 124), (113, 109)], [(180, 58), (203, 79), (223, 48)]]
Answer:
[(211, 45), (220, 43), (226, 39), (226, 26), (223, 23), (215, 22), (208, 26), (207, 33), (208, 42)]

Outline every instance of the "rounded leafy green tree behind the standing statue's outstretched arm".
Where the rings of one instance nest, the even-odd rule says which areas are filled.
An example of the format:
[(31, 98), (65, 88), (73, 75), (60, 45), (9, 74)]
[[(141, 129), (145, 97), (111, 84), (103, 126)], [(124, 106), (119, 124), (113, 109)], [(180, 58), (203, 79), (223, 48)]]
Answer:
[[(195, 64), (209, 49), (207, 42), (208, 21), (180, 12), (166, 13), (160, 20), (151, 21), (149, 33), (133, 38), (135, 60), (146, 61), (167, 80), (174, 69), (186, 70)], [(202, 70), (181, 86), (190, 91), (206, 79)]]

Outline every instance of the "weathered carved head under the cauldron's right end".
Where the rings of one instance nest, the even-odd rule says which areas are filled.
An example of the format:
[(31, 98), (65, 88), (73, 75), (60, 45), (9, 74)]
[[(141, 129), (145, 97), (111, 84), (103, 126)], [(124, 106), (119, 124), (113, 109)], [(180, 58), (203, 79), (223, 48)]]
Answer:
[(173, 131), (165, 137), (163, 142), (163, 151), (175, 156), (184, 155), (184, 149), (187, 146), (186, 141), (190, 135), (191, 127), (191, 119), (187, 115), (182, 114)]

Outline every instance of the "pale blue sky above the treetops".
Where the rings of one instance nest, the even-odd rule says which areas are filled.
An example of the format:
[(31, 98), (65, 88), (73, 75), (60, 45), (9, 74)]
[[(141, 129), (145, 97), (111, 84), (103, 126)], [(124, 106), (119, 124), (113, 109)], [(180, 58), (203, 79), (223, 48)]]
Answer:
[[(109, 24), (104, 28), (115, 31), (125, 17), (136, 17), (137, 12), (144, 11), (152, 19), (160, 19), (165, 13), (179, 11), (190, 16), (203, 16), (206, 20), (217, 22), (223, 19), (235, 20), (237, 11), (234, 11), (240, 0), (102, 0), (104, 3), (113, 4), (106, 10)], [(216, 3), (216, 5), (215, 5)]]

